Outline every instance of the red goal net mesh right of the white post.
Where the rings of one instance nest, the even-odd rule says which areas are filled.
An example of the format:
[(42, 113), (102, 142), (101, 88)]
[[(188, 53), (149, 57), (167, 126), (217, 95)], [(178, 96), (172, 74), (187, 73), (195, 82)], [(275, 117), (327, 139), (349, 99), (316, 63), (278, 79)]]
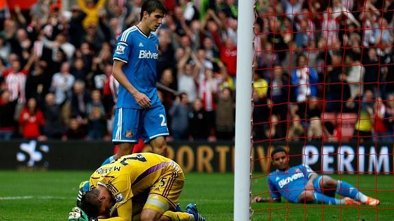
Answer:
[[(251, 198), (280, 192), (267, 179), (275, 170), (270, 153), (283, 146), (288, 167), (306, 164), (382, 203), (305, 205), (282, 197), (252, 203), (252, 219), (389, 219), (394, 1), (260, 0), (255, 9)], [(287, 175), (282, 184), (291, 186), (297, 176)]]

